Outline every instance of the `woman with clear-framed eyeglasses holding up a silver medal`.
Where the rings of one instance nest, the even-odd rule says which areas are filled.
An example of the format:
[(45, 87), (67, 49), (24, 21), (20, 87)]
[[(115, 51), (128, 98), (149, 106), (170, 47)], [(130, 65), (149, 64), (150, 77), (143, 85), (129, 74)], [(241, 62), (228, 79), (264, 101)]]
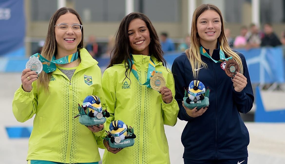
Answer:
[(22, 85), (15, 92), (12, 106), (19, 122), (35, 115), (28, 164), (97, 164), (100, 161), (96, 140), (104, 132), (103, 124), (85, 127), (74, 118), (78, 104), (88, 95), (100, 97), (105, 108), (101, 70), (83, 48), (82, 27), (74, 9), (58, 9), (50, 19), (38, 55), (43, 71), (38, 74), (26, 68), (22, 72)]

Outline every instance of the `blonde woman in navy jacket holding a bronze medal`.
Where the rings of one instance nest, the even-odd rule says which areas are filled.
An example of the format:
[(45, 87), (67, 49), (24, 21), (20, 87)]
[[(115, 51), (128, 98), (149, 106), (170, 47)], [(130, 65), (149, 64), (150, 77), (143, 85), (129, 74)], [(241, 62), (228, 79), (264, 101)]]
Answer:
[[(222, 58), (235, 60), (241, 71), (227, 76)], [(246, 164), (249, 132), (239, 113), (251, 110), (253, 90), (245, 57), (229, 48), (216, 6), (203, 4), (194, 11), (190, 49), (174, 60), (172, 73), (178, 118), (187, 121), (181, 136), (184, 163)], [(198, 111), (182, 102), (192, 80), (200, 80), (211, 90), (209, 106)]]

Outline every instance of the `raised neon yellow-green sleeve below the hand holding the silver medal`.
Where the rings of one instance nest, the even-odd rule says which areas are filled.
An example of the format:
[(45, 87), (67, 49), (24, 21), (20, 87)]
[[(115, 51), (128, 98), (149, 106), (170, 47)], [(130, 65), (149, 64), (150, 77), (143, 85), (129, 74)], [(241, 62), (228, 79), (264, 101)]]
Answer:
[(35, 84), (36, 83), (33, 83), (32, 90), (30, 92), (25, 92), (21, 85), (14, 94), (12, 111), (17, 121), (21, 123), (32, 118), (36, 113), (38, 101)]

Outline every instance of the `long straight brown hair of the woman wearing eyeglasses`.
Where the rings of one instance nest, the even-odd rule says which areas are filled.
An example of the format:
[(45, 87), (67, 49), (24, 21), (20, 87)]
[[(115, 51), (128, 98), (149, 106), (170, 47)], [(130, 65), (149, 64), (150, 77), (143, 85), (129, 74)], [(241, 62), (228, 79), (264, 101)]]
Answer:
[[(79, 14), (72, 8), (66, 8), (66, 7), (62, 7), (60, 9), (58, 9), (50, 18), (50, 23), (48, 25), (48, 32), (46, 34), (46, 40), (44, 42), (44, 46), (42, 47), (42, 52), (41, 55), (48, 59), (49, 61), (51, 61), (52, 57), (54, 54), (57, 53), (57, 46), (56, 46), (56, 38), (55, 38), (55, 32), (54, 32), (54, 26), (56, 25), (56, 21), (58, 20), (58, 18), (66, 13), (72, 13), (75, 14), (80, 22), (80, 24), (82, 24), (82, 20), (81, 17), (79, 16)], [(82, 32), (82, 37), (81, 37), (81, 41), (77, 46), (77, 49), (81, 49), (84, 47), (83, 44), (83, 28), (81, 29)], [(51, 77), (51, 73), (46, 73), (44, 71), (41, 72), (39, 78), (38, 78), (38, 84), (37, 87), (40, 88), (40, 86), (42, 86), (44, 88), (45, 92), (48, 92), (48, 84), (50, 82), (50, 77)]]

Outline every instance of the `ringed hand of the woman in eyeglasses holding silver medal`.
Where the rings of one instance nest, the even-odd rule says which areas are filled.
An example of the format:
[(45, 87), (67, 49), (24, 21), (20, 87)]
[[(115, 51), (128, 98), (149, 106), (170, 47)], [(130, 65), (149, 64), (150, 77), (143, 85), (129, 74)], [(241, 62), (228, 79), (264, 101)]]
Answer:
[(21, 81), (25, 92), (31, 92), (32, 82), (36, 81), (38, 76), (38, 72), (31, 71), (30, 68), (26, 68), (22, 71)]

